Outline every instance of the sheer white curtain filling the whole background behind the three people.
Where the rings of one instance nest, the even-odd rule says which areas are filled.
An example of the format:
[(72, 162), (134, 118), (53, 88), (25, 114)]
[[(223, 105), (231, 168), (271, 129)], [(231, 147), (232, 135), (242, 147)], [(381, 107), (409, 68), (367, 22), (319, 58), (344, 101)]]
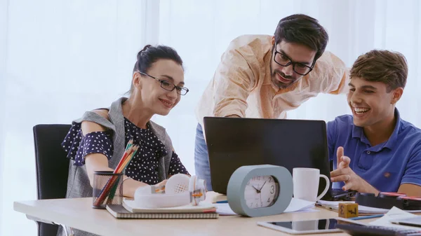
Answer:
[[(373, 48), (406, 55), (408, 84), (397, 107), (421, 126), (417, 0), (0, 0), (0, 234), (36, 235), (35, 223), (13, 211), (13, 201), (36, 199), (32, 127), (70, 123), (123, 95), (146, 43), (172, 46), (185, 62), (191, 92), (169, 116), (153, 119), (194, 173), (194, 108), (229, 41), (273, 34), (293, 13), (319, 19), (328, 50), (349, 67)], [(288, 118), (327, 121), (343, 113), (344, 95), (319, 95)]]

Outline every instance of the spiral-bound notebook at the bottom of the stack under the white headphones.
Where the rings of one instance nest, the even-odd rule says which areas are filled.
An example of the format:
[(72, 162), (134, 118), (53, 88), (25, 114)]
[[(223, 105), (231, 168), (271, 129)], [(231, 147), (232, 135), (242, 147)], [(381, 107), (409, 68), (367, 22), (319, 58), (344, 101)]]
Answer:
[(164, 213), (164, 212), (143, 212), (132, 213), (120, 204), (108, 204), (106, 207), (109, 214), (115, 218), (218, 218), (219, 214), (214, 212), (208, 213)]

